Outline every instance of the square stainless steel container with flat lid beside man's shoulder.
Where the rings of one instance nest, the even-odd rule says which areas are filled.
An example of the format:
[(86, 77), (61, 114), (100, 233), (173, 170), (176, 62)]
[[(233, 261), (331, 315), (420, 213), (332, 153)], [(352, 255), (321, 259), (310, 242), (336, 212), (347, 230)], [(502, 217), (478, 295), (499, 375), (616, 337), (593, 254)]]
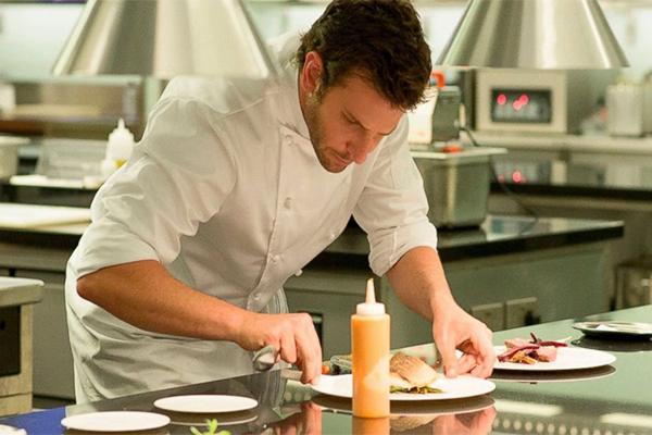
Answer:
[(491, 156), (504, 148), (459, 152), (412, 151), (428, 198), (428, 217), (437, 227), (475, 226), (485, 222), (491, 183)]

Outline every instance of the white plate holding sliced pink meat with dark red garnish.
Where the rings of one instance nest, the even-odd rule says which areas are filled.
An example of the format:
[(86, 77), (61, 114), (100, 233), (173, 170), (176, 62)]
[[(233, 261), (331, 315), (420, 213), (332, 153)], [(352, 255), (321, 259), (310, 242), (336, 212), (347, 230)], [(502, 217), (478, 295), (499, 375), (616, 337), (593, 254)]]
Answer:
[[(505, 346), (494, 346), (496, 355), (503, 353)], [(537, 362), (536, 364), (521, 364), (517, 362), (500, 362), (496, 360), (493, 369), (517, 370), (531, 372), (546, 372), (553, 370), (579, 370), (609, 365), (616, 360), (611, 353), (601, 350), (584, 349), (579, 347), (557, 348), (557, 358), (553, 362)]]

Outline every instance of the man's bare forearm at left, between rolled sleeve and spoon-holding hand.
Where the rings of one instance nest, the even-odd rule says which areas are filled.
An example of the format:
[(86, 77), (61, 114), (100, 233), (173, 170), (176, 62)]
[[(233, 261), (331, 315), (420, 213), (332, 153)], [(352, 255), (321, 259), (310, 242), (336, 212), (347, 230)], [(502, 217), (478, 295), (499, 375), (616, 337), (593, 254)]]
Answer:
[(211, 340), (237, 340), (246, 310), (195, 290), (156, 261), (104, 268), (77, 281), (77, 291), (141, 330)]

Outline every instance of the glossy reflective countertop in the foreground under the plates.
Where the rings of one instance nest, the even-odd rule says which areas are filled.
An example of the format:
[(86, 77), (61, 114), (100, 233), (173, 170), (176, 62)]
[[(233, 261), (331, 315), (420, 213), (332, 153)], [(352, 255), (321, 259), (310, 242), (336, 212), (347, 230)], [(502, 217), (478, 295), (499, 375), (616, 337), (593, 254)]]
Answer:
[[(605, 313), (591, 320), (647, 322), (652, 307)], [(600, 349), (616, 356), (607, 366), (565, 373), (505, 376), (494, 373), (497, 388), (490, 395), (447, 402), (392, 403), (389, 433), (409, 434), (652, 434), (652, 341), (589, 339), (565, 320), (494, 335), (494, 344), (526, 336), (572, 336), (572, 345)], [(409, 349), (435, 361), (432, 345)], [(66, 415), (110, 410), (158, 410), (154, 400), (187, 394), (234, 394), (253, 397), (260, 405), (238, 415), (209, 415), (222, 421), (231, 434), (291, 433), (359, 434), (364, 421), (351, 417), (351, 402), (317, 395), (296, 380), (296, 372), (276, 371), (191, 385), (167, 390), (104, 400), (83, 406), (55, 408), (1, 419), (27, 430), (30, 435), (66, 433), (60, 425)], [(173, 423), (153, 433), (188, 434), (189, 425), (202, 426), (206, 415), (170, 414)], [(237, 421), (241, 423), (238, 423)], [(202, 427), (203, 428), (203, 427)]]

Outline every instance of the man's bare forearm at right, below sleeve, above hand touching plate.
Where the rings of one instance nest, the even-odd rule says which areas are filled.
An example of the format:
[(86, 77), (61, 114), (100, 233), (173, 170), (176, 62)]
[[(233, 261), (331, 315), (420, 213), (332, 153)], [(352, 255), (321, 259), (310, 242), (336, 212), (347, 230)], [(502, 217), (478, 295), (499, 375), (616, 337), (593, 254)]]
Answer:
[(387, 277), (401, 302), (430, 322), (437, 307), (454, 302), (439, 254), (431, 248), (408, 251)]

